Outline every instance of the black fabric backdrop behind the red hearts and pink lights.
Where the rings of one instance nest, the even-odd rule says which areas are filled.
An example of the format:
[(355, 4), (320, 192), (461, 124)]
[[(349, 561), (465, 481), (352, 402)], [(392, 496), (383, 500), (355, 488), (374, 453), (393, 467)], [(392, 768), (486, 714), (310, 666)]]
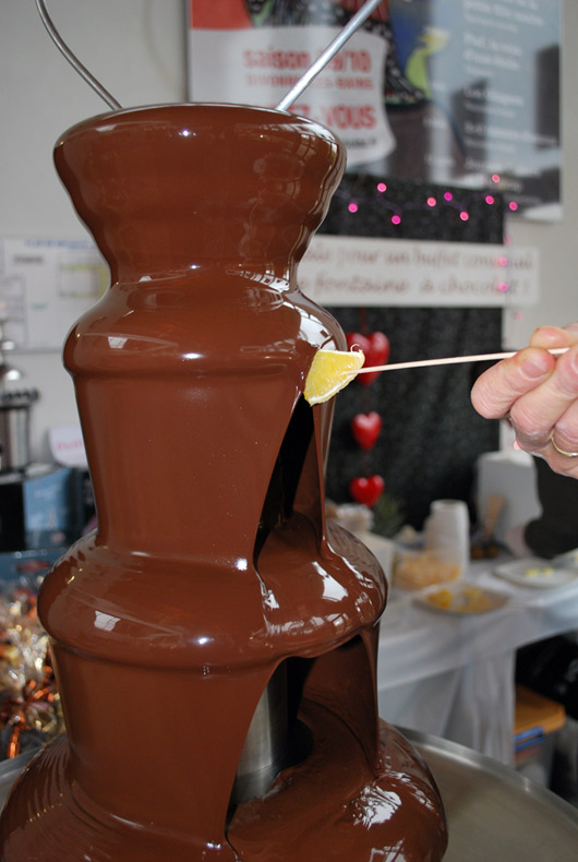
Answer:
[[(503, 241), (503, 201), (487, 205), (487, 191), (346, 175), (321, 234), (437, 241)], [(453, 200), (444, 201), (444, 192)], [(435, 207), (428, 206), (433, 195)], [(352, 214), (349, 204), (359, 209)], [(459, 216), (461, 209), (468, 220)], [(398, 213), (400, 224), (392, 223)], [(502, 349), (502, 311), (497, 308), (332, 308), (344, 330), (384, 332), (390, 362)], [(383, 373), (369, 386), (358, 381), (336, 399), (327, 470), (327, 496), (351, 502), (348, 486), (358, 476), (378, 474), (386, 498), (395, 500), (404, 522), (420, 529), (432, 500), (465, 500), (474, 508), (474, 467), (483, 452), (498, 446), (498, 423), (478, 416), (470, 390), (483, 367), (459, 364)], [(361, 450), (351, 435), (356, 414), (376, 410), (383, 420), (377, 443)], [(384, 500), (382, 500), (383, 504)], [(378, 504), (381, 505), (381, 504)]]

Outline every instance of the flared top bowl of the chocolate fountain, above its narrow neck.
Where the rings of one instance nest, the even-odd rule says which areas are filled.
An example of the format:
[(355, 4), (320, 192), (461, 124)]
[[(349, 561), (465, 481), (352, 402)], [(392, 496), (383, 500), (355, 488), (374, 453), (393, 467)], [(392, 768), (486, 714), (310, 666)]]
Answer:
[(345, 167), (323, 125), (238, 105), (159, 105), (67, 131), (57, 170), (112, 279), (216, 263), (286, 275)]

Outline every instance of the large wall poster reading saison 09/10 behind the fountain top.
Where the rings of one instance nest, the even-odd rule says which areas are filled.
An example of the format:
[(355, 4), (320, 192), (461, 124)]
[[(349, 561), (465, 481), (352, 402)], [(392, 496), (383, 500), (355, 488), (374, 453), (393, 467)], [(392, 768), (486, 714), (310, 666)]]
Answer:
[[(188, 0), (189, 97), (275, 107), (362, 0)], [(291, 110), (359, 173), (561, 218), (562, 0), (384, 0)]]

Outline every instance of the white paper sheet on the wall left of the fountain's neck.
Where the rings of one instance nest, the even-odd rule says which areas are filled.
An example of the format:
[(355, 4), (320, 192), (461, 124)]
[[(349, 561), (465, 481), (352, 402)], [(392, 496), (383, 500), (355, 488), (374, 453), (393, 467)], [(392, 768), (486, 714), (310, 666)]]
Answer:
[(60, 350), (107, 283), (91, 240), (0, 238), (0, 318), (20, 350)]

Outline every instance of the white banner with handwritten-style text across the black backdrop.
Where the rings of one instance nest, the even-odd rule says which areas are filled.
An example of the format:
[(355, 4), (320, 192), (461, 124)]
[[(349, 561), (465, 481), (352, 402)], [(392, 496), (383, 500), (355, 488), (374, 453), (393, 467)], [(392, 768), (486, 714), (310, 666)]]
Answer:
[(322, 306), (529, 306), (535, 249), (469, 242), (315, 236), (299, 286)]

